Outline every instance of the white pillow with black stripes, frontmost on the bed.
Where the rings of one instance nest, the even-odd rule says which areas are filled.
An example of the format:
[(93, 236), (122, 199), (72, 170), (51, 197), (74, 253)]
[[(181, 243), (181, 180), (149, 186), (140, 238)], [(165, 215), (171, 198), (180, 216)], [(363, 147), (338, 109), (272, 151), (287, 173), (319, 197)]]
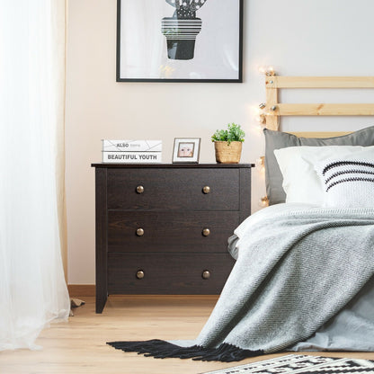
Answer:
[(325, 207), (374, 207), (374, 159), (335, 159), (319, 169)]

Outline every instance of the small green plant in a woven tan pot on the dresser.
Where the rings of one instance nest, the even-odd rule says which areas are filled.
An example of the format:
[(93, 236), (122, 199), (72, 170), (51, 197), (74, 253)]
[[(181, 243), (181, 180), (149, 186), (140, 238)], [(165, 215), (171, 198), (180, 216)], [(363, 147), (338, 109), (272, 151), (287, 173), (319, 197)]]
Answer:
[(217, 130), (211, 137), (218, 164), (238, 164), (242, 154), (245, 131), (236, 123), (228, 123), (227, 129)]

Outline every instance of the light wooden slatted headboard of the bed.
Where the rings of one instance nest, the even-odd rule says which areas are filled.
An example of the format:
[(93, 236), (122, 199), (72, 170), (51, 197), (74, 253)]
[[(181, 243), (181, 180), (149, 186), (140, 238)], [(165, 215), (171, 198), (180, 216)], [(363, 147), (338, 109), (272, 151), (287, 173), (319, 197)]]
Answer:
[(262, 109), (264, 125), (268, 129), (279, 129), (280, 116), (374, 115), (374, 103), (279, 102), (279, 91), (282, 88), (374, 88), (374, 76), (276, 76), (271, 70), (266, 72), (265, 85), (266, 104)]

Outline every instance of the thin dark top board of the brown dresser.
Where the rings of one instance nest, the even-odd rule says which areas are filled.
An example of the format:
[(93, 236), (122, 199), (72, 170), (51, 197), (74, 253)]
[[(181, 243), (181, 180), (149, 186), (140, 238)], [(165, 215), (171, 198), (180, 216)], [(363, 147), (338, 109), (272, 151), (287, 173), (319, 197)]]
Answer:
[(195, 169), (204, 169), (204, 168), (251, 168), (254, 167), (254, 164), (91, 164), (92, 167), (101, 167), (101, 168), (137, 168), (137, 169), (147, 169), (147, 168), (195, 168)]

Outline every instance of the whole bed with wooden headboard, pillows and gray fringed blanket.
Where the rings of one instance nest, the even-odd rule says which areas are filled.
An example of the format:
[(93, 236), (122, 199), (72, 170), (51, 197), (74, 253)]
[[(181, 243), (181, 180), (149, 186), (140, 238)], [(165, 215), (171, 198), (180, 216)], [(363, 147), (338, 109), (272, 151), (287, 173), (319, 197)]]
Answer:
[[(368, 83), (369, 82), (369, 83)], [(281, 85), (357, 87), (362, 77), (266, 76), (271, 206), (236, 228), (236, 259), (192, 342), (111, 342), (156, 358), (240, 361), (281, 351), (374, 352), (374, 127), (327, 138), (279, 131), (280, 115), (373, 115), (373, 104), (280, 104)]]

